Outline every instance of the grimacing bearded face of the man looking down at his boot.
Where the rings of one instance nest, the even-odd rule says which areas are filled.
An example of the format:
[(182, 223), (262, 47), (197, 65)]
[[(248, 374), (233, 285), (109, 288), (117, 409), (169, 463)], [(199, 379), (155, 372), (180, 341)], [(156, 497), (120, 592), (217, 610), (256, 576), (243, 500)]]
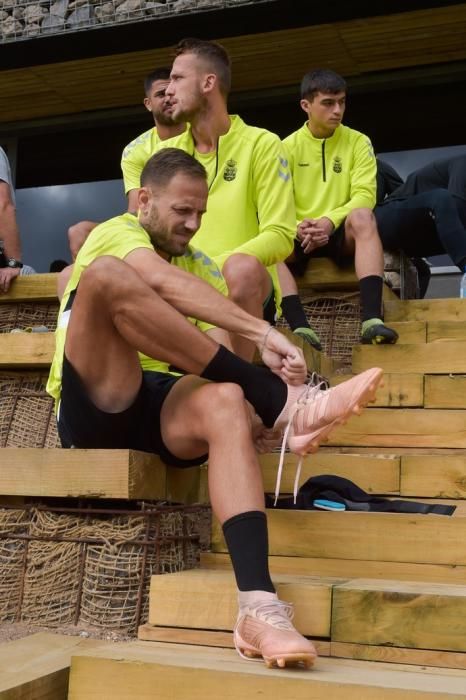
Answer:
[(164, 257), (178, 257), (201, 225), (207, 205), (207, 183), (178, 173), (164, 188), (139, 191), (139, 221)]

